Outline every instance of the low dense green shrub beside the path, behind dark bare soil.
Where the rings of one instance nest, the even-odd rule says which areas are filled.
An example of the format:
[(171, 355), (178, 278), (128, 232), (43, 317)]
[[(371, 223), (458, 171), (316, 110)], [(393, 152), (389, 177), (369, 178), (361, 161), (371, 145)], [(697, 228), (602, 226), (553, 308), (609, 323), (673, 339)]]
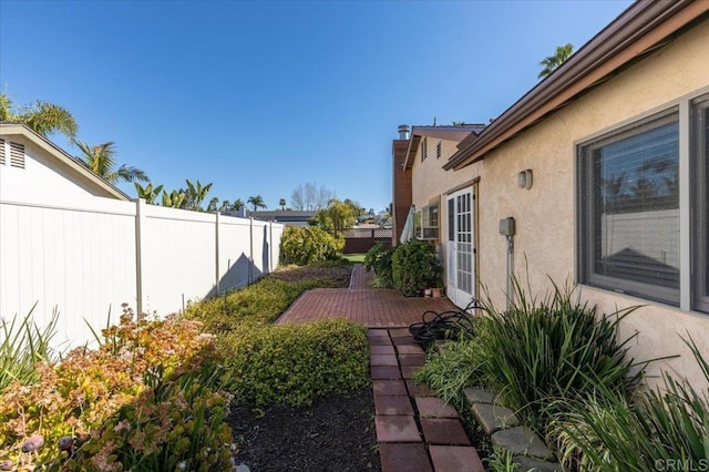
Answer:
[(222, 338), (225, 386), (255, 404), (310, 404), (369, 383), (367, 329), (345, 320), (238, 329)]

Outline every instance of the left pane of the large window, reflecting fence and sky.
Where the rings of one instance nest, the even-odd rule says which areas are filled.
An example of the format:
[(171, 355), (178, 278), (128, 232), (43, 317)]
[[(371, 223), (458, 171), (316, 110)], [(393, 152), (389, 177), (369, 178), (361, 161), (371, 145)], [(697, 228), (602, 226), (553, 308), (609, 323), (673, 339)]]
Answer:
[(679, 304), (677, 113), (580, 147), (582, 281)]

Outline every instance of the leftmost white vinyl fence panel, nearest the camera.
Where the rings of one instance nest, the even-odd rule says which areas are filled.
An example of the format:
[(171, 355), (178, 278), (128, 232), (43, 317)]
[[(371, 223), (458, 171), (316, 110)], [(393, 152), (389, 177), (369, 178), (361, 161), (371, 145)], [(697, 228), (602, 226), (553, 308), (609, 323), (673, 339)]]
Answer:
[[(134, 302), (135, 205), (99, 198), (55, 206), (0, 203), (0, 317), (47, 325), (59, 312), (54, 343), (92, 340), (89, 329), (116, 320)], [(84, 322), (85, 320), (85, 322)]]

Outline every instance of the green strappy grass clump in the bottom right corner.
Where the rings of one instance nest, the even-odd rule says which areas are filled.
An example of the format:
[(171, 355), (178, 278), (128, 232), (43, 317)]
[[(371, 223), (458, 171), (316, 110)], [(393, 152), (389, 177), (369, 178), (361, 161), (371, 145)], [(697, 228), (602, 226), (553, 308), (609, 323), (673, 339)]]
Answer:
[[(709, 384), (709, 362), (691, 337), (684, 339)], [(561, 459), (579, 470), (708, 470), (709, 388), (698, 390), (665, 372), (634, 401), (604, 384), (556, 414), (551, 435)]]

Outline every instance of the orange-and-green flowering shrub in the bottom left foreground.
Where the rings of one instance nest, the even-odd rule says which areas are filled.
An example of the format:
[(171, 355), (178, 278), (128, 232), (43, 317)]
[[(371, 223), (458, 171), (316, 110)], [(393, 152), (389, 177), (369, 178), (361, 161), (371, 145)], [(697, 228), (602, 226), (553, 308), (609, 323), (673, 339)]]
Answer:
[[(58, 470), (228, 468), (230, 396), (198, 321), (148, 320), (124, 306), (99, 349), (37, 365), (0, 392), (0, 464)], [(28, 438), (43, 447), (25, 452)]]

